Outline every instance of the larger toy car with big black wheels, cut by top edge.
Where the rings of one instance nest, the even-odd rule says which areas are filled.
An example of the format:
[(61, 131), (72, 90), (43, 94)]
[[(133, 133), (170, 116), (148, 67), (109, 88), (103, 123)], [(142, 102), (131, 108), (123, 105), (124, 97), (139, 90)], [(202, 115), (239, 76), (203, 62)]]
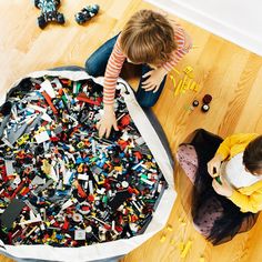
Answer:
[(51, 21), (64, 23), (63, 14), (58, 12), (60, 0), (34, 0), (34, 6), (41, 10), (41, 16), (38, 18), (38, 26), (41, 29), (44, 29)]

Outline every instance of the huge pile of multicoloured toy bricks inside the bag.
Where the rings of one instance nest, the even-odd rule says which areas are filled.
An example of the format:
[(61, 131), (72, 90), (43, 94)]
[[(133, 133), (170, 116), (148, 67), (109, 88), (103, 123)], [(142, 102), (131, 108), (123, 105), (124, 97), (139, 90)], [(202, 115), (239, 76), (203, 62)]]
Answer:
[(102, 87), (28, 78), (0, 118), (0, 239), (82, 246), (144, 232), (167, 182), (115, 94), (119, 131), (100, 139)]

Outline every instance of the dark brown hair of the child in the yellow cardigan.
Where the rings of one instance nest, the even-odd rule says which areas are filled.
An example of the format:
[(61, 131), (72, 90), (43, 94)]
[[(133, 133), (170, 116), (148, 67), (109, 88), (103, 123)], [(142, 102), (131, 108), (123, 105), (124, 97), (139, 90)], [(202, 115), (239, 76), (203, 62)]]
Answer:
[(243, 163), (251, 173), (262, 171), (262, 135), (248, 144), (244, 150)]

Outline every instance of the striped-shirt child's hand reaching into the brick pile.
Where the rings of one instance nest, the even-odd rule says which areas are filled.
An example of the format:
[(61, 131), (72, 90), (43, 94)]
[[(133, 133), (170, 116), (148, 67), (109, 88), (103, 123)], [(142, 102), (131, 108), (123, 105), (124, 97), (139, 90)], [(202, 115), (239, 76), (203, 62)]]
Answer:
[(118, 131), (118, 123), (112, 105), (104, 105), (104, 114), (101, 120), (97, 123), (97, 129), (99, 130), (99, 138), (105, 134), (105, 138), (110, 135), (112, 127)]

